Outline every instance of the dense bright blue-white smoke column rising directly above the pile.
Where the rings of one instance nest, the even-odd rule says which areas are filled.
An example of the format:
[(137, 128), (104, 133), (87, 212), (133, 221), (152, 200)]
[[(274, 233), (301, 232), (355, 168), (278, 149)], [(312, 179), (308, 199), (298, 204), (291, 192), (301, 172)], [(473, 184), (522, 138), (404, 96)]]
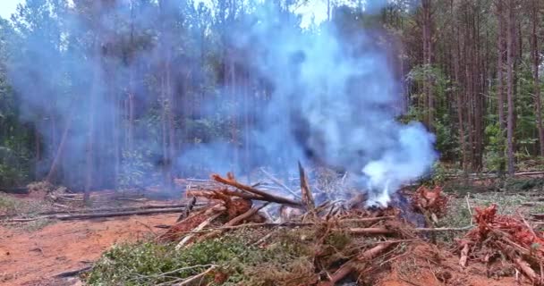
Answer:
[(427, 174), (438, 157), (435, 137), (420, 122), (395, 119), (400, 79), (375, 42), (377, 31), (337, 22), (301, 30), (294, 19), (265, 8), (230, 38), (248, 51), (246, 65), (273, 86), (251, 130), (253, 144), (265, 150), (261, 164), (280, 161), (281, 169), (318, 159), (348, 171), (369, 204), (381, 206), (402, 184)]

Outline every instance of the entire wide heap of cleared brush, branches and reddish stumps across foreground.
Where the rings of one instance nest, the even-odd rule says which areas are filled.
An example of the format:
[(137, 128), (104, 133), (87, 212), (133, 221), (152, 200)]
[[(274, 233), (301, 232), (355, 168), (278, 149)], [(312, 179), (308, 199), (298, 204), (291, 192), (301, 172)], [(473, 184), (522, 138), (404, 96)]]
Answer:
[[(267, 176), (274, 186), (244, 184), (232, 173), (183, 181), (190, 206), (177, 222), (150, 242), (106, 252), (88, 282), (469, 285), (482, 273), (496, 276), (498, 263), (511, 266), (506, 284), (541, 284), (542, 233), (523, 219), (498, 215), (496, 206), (477, 209), (475, 227), (438, 228), (448, 202), (439, 187), (399, 195), (388, 207), (365, 206), (364, 196), (316, 204), (314, 196), (326, 188), (310, 187), (302, 167), (293, 180), (300, 191)], [(466, 232), (453, 252), (438, 248), (437, 234), (444, 231)]]

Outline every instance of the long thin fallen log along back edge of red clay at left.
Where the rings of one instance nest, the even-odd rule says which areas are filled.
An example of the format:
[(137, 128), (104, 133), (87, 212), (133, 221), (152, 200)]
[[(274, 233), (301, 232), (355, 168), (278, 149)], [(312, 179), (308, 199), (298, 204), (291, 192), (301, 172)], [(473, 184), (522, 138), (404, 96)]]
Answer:
[(183, 213), (183, 211), (185, 211), (184, 207), (174, 207), (174, 208), (140, 210), (140, 211), (132, 211), (132, 212), (112, 212), (112, 213), (94, 213), (94, 214), (51, 214), (51, 215), (42, 215), (42, 216), (31, 217), (31, 218), (14, 218), (14, 219), (6, 220), (6, 222), (26, 223), (26, 222), (37, 221), (39, 219), (70, 221), (70, 220), (85, 220), (85, 219), (93, 219), (93, 218), (137, 215), (137, 214), (138, 215), (174, 214), (174, 213)]

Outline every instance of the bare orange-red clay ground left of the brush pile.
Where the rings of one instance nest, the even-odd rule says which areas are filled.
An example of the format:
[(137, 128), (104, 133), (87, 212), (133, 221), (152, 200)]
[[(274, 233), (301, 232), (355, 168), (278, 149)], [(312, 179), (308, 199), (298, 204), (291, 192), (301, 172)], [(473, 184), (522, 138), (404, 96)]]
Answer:
[(154, 225), (174, 223), (178, 216), (157, 214), (54, 223), (33, 232), (0, 226), (0, 285), (81, 285), (77, 279), (53, 276), (81, 269), (113, 244), (143, 239), (153, 234), (150, 229)]

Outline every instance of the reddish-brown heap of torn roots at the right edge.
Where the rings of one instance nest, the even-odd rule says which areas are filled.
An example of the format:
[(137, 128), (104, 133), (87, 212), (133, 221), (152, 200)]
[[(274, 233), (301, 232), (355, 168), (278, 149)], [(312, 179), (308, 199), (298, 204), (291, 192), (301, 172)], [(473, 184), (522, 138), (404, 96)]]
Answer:
[(490, 268), (505, 261), (514, 265), (516, 277), (522, 273), (534, 285), (543, 285), (544, 233), (535, 231), (521, 214), (497, 214), (497, 205), (475, 208), (476, 228), (458, 241), (459, 264), (483, 262)]

